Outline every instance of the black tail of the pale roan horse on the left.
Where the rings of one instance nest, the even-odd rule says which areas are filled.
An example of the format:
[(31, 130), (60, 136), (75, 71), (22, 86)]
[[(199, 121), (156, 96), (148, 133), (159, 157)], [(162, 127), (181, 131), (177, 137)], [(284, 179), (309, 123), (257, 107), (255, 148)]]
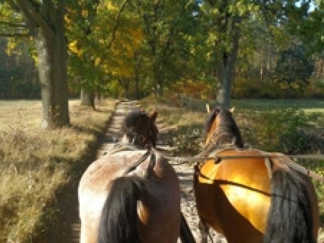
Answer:
[(101, 214), (99, 243), (140, 242), (137, 230), (137, 200), (146, 188), (145, 180), (138, 176), (113, 180)]

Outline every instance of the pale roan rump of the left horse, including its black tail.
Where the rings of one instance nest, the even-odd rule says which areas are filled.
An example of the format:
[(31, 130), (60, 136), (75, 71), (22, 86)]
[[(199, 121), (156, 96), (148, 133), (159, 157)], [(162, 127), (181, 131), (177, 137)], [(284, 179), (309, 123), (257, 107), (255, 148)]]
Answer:
[[(153, 242), (151, 238), (161, 239), (156, 242), (176, 242), (180, 232), (180, 189), (167, 159), (157, 154), (153, 167), (146, 159), (128, 175), (121, 176), (144, 153), (137, 150), (105, 155), (88, 168), (79, 184), (79, 211), (85, 234), (88, 228), (96, 228), (98, 233), (103, 213), (106, 215), (102, 218), (101, 240), (108, 237), (108, 241), (100, 242)], [(151, 172), (147, 173), (149, 168)], [(97, 235), (93, 238), (97, 240)]]

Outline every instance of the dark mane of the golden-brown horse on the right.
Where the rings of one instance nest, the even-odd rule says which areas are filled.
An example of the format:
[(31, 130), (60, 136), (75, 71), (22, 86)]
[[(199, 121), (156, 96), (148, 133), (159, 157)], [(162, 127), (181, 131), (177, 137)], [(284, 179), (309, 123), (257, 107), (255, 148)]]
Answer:
[(207, 118), (205, 133), (206, 135), (210, 132), (216, 116), (220, 117), (221, 124), (219, 129), (223, 130), (228, 136), (235, 137), (235, 145), (239, 148), (243, 148), (243, 141), (239, 129), (232, 117), (232, 113), (225, 108), (216, 107)]

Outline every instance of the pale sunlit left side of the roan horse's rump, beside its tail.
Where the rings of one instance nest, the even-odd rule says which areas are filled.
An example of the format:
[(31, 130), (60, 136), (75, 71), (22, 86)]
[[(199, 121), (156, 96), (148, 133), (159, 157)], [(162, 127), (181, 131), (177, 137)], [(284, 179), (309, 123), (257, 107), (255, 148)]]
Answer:
[(97, 228), (111, 181), (121, 176), (144, 152), (108, 154), (94, 161), (85, 171), (78, 186), (81, 243), (97, 242)]

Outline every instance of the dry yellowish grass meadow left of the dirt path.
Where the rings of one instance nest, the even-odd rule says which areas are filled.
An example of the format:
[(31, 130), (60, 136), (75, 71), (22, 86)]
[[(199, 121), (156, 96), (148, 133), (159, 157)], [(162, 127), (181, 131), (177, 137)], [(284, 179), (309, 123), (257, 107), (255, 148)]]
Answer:
[(41, 101), (0, 101), (0, 242), (29, 242), (55, 215), (49, 201), (85, 162), (115, 103), (69, 101), (71, 127), (43, 130)]

